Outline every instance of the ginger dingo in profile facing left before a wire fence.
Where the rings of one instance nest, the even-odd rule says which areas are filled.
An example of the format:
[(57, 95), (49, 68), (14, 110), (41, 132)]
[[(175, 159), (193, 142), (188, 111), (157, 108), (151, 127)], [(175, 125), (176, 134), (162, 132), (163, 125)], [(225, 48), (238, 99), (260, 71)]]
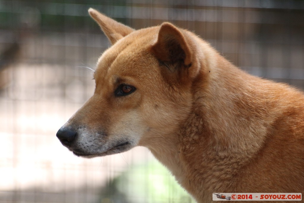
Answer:
[(64, 146), (88, 158), (145, 146), (198, 202), (303, 193), (303, 93), (245, 73), (171, 23), (133, 30), (89, 13), (112, 47), (94, 95), (57, 132)]

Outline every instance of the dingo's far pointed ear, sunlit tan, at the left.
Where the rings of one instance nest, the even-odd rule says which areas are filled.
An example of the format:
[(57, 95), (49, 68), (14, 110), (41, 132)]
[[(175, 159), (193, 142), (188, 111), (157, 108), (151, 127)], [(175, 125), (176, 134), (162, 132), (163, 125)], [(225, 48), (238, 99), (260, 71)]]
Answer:
[(134, 29), (101, 14), (95, 9), (90, 8), (88, 12), (90, 16), (98, 23), (112, 44), (115, 44), (116, 41), (134, 31)]

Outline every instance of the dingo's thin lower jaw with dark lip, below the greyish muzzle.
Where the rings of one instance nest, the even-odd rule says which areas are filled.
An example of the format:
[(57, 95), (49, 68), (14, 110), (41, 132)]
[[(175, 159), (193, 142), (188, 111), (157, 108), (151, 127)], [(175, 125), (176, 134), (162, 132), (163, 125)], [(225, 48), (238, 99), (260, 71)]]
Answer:
[(109, 147), (109, 149), (106, 149), (104, 152), (85, 152), (82, 149), (71, 149), (68, 148), (73, 152), (74, 155), (76, 156), (81, 156), (85, 158), (93, 158), (93, 157), (98, 157), (98, 156), (107, 156), (107, 155), (112, 155), (112, 154), (117, 154), (121, 152), (126, 152), (133, 148), (132, 143), (127, 141), (127, 142), (122, 142), (120, 144), (117, 144), (113, 146), (112, 148)]

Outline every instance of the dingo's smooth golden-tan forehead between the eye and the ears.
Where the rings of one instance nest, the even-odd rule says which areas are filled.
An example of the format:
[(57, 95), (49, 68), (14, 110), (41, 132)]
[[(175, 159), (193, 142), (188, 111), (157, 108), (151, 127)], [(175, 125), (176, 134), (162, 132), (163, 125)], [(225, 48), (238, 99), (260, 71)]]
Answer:
[[(96, 84), (99, 80), (108, 81), (124, 78), (137, 78), (156, 71), (157, 60), (150, 47), (157, 40), (157, 27), (136, 30), (117, 41), (98, 59), (94, 73)], [(151, 72), (152, 71), (152, 72)]]

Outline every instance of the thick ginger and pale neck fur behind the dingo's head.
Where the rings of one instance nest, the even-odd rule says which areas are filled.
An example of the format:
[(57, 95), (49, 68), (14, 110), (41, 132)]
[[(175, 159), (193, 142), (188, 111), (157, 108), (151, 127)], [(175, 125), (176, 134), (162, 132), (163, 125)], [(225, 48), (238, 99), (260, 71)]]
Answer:
[(194, 82), (184, 125), (160, 141), (162, 146), (150, 148), (198, 202), (211, 201), (212, 192), (240, 192), (235, 191), (240, 172), (246, 173), (244, 166), (261, 152), (271, 126), (288, 108), (284, 95), (274, 99), (275, 93), (286, 88), (297, 93), (216, 58)]

